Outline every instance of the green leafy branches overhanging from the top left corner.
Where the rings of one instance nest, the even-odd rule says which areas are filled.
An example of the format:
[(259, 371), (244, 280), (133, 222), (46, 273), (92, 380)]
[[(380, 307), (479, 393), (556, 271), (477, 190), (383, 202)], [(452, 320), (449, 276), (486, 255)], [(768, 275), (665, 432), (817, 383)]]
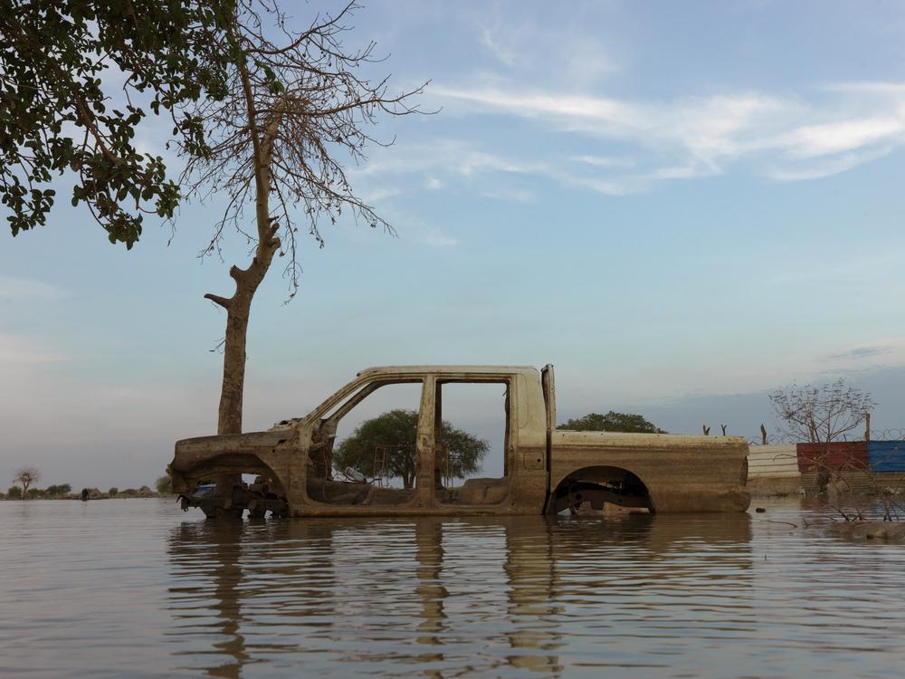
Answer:
[(72, 205), (86, 204), (110, 243), (131, 247), (145, 214), (173, 215), (179, 186), (136, 132), (163, 112), (183, 148), (207, 153), (204, 121), (185, 104), (224, 95), (231, 55), (211, 36), (234, 5), (0, 0), (0, 199), (14, 235), (45, 223), (54, 175), (71, 175)]

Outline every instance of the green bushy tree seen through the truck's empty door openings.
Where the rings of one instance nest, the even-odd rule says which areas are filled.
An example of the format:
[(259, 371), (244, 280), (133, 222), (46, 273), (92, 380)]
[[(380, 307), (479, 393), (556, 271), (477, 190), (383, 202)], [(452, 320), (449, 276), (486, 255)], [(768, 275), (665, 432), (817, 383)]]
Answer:
[[(412, 488), (417, 429), (416, 411), (391, 410), (358, 426), (338, 446), (333, 463), (340, 471), (354, 469), (366, 477), (374, 477), (381, 473), (375, 467), (377, 446), (392, 446), (386, 451), (386, 474), (401, 478), (405, 488)], [(441, 443), (447, 447), (449, 454), (449, 476), (458, 479), (481, 469), (481, 460), (490, 449), (486, 441), (456, 429), (446, 421), (441, 425)], [(443, 473), (445, 471), (442, 470)]]

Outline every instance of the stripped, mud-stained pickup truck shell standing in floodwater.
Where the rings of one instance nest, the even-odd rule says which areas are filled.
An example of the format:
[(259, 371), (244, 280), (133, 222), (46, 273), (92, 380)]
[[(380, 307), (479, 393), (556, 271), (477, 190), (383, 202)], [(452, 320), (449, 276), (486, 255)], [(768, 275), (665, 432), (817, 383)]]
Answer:
[[(444, 487), (443, 390), (457, 383), (503, 387), (503, 469), (500, 478)], [(340, 420), (377, 389), (398, 384), (420, 392), (413, 487), (336, 479)], [(270, 431), (178, 441), (168, 472), (183, 509), (200, 507), (209, 518), (246, 509), (306, 517), (553, 514), (600, 510), (605, 502), (649, 512), (744, 512), (747, 455), (746, 441), (731, 436), (557, 430), (550, 365), (393, 366), (362, 370), (309, 416)], [(242, 474), (257, 478), (243, 483)]]

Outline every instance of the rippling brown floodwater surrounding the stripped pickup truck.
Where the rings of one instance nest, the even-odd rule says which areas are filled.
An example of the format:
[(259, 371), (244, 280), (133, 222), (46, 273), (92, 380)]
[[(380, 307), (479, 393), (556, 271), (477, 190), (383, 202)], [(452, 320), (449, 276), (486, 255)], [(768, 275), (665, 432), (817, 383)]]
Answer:
[(0, 502), (0, 676), (905, 674), (905, 544), (765, 506), (229, 524)]

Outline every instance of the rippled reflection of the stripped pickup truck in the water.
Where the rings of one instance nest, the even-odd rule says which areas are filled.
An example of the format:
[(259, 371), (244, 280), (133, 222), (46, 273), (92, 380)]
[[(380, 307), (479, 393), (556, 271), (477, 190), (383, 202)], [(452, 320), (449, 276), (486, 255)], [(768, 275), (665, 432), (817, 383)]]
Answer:
[(188, 521), (172, 653), (216, 677), (665, 667), (682, 630), (751, 622), (750, 541), (747, 514)]

